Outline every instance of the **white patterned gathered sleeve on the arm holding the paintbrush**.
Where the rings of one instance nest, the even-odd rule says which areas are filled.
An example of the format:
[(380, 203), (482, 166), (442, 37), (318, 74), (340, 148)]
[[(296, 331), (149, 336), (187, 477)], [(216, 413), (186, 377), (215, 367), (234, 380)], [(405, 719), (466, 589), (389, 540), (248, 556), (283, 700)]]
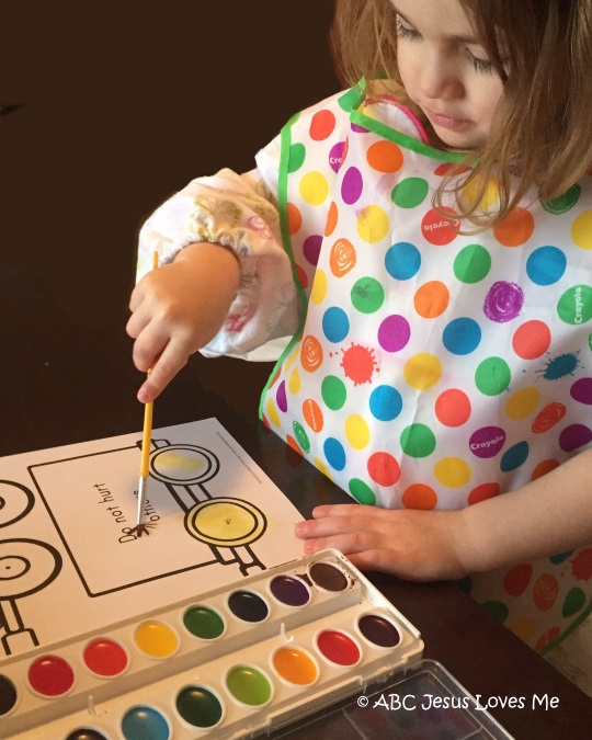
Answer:
[(239, 175), (225, 169), (197, 178), (140, 229), (138, 280), (150, 270), (155, 250), (160, 264), (197, 241), (223, 243), (237, 254), (239, 291), (224, 327), (202, 350), (205, 355), (276, 360), (298, 325), (299, 298), (276, 206), (278, 161), (280, 144), (274, 140), (265, 148), (264, 172)]

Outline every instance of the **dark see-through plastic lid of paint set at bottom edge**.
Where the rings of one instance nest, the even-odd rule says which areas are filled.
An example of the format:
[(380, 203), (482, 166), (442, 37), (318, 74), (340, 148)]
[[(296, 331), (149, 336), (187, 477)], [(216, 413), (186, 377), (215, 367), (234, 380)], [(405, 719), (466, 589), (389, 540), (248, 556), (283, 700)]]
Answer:
[[(367, 699), (367, 703), (366, 703)], [(512, 740), (512, 736), (434, 660), (421, 660), (405, 676), (373, 684), (274, 732), (272, 738), (315, 740)]]

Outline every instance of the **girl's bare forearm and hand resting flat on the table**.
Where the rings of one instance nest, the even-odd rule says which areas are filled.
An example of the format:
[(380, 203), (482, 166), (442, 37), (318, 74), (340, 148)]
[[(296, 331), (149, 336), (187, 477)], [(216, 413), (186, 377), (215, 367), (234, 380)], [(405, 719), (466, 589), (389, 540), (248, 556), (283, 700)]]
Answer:
[(411, 580), (460, 578), (592, 543), (592, 449), (523, 488), (459, 511), (318, 506), (296, 525), (305, 551)]

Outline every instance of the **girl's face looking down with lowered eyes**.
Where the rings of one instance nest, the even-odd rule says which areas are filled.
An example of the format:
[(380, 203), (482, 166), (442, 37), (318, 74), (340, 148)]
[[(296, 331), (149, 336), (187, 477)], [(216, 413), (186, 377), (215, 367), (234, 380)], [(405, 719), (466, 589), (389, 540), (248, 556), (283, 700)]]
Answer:
[(502, 82), (458, 0), (391, 0), (399, 73), (447, 146), (473, 149), (489, 136)]

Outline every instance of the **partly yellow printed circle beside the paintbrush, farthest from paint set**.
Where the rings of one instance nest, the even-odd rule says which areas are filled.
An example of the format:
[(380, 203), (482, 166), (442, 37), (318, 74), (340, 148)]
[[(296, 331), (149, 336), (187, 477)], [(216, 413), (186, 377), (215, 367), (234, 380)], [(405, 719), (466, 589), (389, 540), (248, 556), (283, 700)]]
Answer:
[(150, 475), (163, 483), (203, 483), (214, 478), (219, 467), (209, 449), (191, 444), (161, 447), (150, 456)]

